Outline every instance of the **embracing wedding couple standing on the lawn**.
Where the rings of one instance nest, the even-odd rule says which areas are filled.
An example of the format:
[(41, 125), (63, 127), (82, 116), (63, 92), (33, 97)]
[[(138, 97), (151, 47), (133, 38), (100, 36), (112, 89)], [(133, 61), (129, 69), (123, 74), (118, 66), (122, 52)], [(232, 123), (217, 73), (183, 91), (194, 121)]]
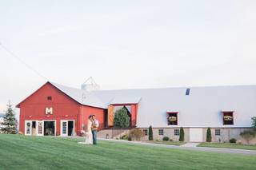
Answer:
[(97, 144), (97, 130), (98, 130), (98, 120), (95, 115), (90, 115), (88, 117), (87, 131), (86, 131), (86, 144)]

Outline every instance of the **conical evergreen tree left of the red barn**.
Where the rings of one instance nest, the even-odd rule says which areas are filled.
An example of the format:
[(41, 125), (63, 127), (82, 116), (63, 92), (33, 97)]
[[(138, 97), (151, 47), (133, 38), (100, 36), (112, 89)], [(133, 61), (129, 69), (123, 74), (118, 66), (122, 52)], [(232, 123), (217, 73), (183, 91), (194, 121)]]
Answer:
[(15, 134), (17, 133), (17, 120), (15, 118), (14, 109), (12, 108), (12, 105), (10, 105), (10, 101), (7, 105), (6, 114), (3, 117), (2, 122), (2, 132), (8, 133), (8, 134)]

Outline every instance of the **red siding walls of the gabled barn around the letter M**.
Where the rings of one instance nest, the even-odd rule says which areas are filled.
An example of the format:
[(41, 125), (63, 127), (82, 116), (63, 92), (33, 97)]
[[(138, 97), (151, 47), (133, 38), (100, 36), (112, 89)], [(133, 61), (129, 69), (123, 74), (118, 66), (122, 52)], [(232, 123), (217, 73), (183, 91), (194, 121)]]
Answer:
[[(52, 100), (47, 100), (47, 97), (52, 97)], [(66, 94), (47, 82), (35, 93), (26, 98), (18, 105), (20, 108), (20, 132), (25, 131), (25, 120), (56, 120), (56, 134), (60, 134), (60, 120), (74, 120), (75, 132), (79, 135), (82, 130), (82, 111), (83, 120), (87, 124), (87, 117), (90, 114), (96, 115), (101, 128), (103, 125), (104, 109), (98, 109), (90, 106), (82, 106), (74, 101)], [(46, 115), (46, 107), (53, 108), (52, 115)]]

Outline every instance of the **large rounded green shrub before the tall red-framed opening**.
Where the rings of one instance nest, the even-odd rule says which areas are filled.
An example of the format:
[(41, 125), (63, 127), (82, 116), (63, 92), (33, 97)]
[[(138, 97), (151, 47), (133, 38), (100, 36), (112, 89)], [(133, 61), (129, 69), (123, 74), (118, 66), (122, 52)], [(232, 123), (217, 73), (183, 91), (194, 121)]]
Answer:
[(114, 113), (114, 126), (117, 128), (127, 128), (130, 126), (130, 117), (126, 109), (119, 109)]

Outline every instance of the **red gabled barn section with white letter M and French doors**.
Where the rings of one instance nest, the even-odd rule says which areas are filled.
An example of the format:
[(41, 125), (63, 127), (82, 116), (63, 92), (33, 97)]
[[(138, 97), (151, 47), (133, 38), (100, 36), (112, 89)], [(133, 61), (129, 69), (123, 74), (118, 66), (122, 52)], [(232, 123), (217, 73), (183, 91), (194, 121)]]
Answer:
[(113, 126), (116, 105), (127, 108), (130, 126), (135, 127), (138, 102), (106, 103), (86, 90), (46, 82), (17, 105), (20, 108), (19, 131), (25, 135), (76, 136), (85, 130), (90, 115), (97, 117), (101, 130)]

